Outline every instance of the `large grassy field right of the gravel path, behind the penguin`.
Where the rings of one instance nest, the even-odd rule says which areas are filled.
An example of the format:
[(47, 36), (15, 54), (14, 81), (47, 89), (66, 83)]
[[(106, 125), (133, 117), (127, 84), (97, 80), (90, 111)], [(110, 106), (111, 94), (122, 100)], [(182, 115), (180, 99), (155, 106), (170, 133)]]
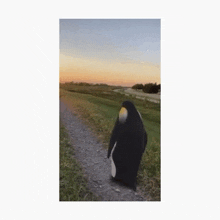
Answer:
[(148, 133), (137, 184), (153, 200), (160, 201), (160, 104), (113, 92), (117, 88), (60, 84), (60, 98), (86, 121), (106, 149), (121, 103), (128, 99), (134, 102)]

